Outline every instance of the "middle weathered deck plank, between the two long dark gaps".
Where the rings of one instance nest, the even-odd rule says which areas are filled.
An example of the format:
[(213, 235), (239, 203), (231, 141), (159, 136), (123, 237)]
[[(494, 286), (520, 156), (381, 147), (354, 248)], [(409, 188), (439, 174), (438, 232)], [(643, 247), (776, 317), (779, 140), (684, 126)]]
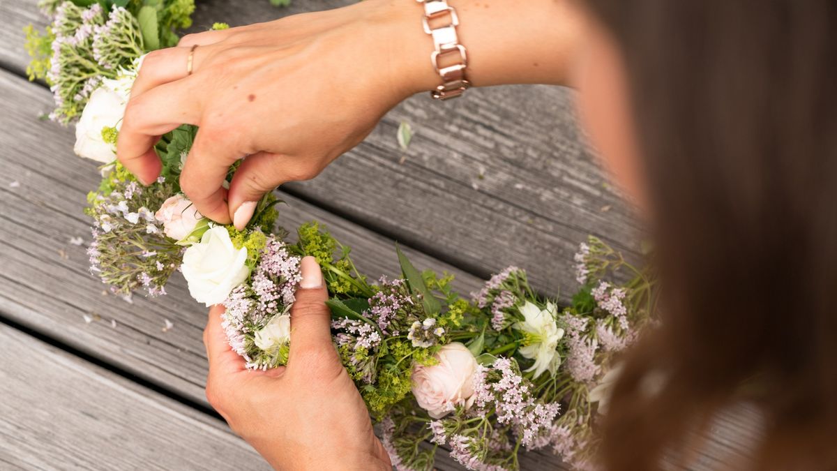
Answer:
[[(0, 316), (208, 406), (203, 394), (206, 309), (188, 297), (179, 277), (164, 298), (136, 297), (129, 304), (103, 294), (87, 272), (85, 248), (69, 244), (76, 236), (90, 241), (90, 220), (81, 210), (85, 194), (97, 184), (95, 163), (73, 155), (68, 129), (35, 119), (33, 110), (49, 103), (48, 91), (0, 71), (0, 95), (9, 97), (0, 116), (5, 130), (0, 137)], [(393, 241), (290, 195), (280, 197), (289, 202), (281, 209), (283, 224), (321, 220), (353, 247), (363, 272), (398, 273)], [(460, 291), (480, 287), (479, 279), (403, 248), (417, 266), (457, 275)], [(86, 323), (85, 316), (96, 320)], [(174, 323), (167, 332), (165, 319)], [(532, 454), (524, 462), (557, 460)], [(452, 468), (450, 463), (439, 454), (439, 469)]]

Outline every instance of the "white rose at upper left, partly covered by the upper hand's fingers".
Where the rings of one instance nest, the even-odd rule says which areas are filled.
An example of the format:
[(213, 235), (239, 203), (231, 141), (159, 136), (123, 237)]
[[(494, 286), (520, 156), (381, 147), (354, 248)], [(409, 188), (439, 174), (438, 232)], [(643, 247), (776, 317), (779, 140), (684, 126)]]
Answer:
[(122, 117), (125, 116), (133, 84), (133, 75), (123, 75), (118, 80), (102, 80), (102, 85), (93, 91), (75, 125), (73, 150), (76, 154), (101, 163), (111, 163), (116, 159), (116, 145), (105, 142), (102, 130), (112, 127), (119, 131), (122, 127)]

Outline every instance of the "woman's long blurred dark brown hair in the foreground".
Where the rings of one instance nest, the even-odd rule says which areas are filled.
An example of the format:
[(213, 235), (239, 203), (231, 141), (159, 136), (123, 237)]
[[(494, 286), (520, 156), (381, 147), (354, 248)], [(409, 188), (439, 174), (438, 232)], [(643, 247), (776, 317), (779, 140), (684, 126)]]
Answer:
[(662, 327), (605, 419), (606, 467), (683, 456), (747, 384), (755, 468), (837, 469), (837, 2), (585, 3), (627, 69), (663, 282)]

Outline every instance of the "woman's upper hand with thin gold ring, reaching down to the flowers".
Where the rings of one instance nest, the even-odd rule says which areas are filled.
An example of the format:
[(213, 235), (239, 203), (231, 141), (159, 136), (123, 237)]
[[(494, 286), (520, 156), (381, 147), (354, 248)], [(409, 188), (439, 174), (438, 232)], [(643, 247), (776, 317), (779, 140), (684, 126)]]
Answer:
[[(190, 34), (177, 47), (154, 51), (131, 91), (119, 160), (149, 184), (161, 170), (153, 149), (159, 136), (184, 123), (199, 126), (182, 190), (201, 214), (242, 229), (265, 193), (315, 177), (419, 91), (404, 80), (411, 68), (427, 69), (412, 75), (434, 80), (419, 12), (413, 3), (367, 0)], [(420, 59), (408, 48), (422, 51)], [(224, 189), (230, 165), (245, 156)]]

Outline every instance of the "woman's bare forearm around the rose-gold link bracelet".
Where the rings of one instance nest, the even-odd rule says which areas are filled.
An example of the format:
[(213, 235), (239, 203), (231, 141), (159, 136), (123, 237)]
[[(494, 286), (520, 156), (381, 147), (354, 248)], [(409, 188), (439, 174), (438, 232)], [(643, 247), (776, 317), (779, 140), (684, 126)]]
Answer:
[[(439, 85), (430, 62), (433, 42), (421, 24), (423, 9), (410, 0), (392, 0), (398, 20), (393, 66), (410, 92)], [(474, 86), (567, 85), (574, 51), (582, 35), (578, 7), (568, 0), (449, 0), (460, 18), (460, 44), (468, 51), (466, 75)], [(386, 39), (383, 39), (386, 40)]]

